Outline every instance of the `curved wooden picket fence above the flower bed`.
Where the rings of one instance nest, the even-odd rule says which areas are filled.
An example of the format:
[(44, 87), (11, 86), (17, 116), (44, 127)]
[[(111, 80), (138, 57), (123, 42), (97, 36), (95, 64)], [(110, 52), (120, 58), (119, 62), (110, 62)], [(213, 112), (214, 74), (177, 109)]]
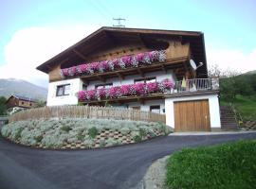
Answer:
[(165, 124), (165, 114), (141, 112), (133, 109), (93, 106), (56, 106), (28, 109), (10, 115), (9, 122), (49, 118), (100, 118), (161, 122)]

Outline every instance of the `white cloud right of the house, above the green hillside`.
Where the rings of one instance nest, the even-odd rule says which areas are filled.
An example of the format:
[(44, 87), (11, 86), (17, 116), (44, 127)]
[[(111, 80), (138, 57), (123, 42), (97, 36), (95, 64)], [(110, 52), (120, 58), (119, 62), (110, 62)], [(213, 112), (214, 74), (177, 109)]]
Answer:
[(242, 49), (207, 49), (209, 65), (217, 64), (222, 70), (245, 73), (256, 70), (256, 48), (245, 53)]

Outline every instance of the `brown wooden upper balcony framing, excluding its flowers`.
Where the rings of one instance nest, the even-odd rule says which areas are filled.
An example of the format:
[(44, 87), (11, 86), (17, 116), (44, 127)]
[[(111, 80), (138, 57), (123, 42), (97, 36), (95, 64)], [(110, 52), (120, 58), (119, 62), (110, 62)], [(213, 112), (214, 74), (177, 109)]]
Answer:
[[(178, 79), (181, 79), (187, 71), (191, 71), (190, 65), (189, 65), (189, 59), (191, 57), (190, 43), (180, 43), (180, 42), (174, 43), (172, 41), (168, 41), (167, 43), (169, 43), (169, 46), (167, 49), (165, 49), (166, 60), (164, 61), (154, 61), (152, 62), (152, 64), (139, 65), (138, 67), (130, 67), (130, 68), (127, 67), (124, 69), (120, 68), (118, 70), (107, 71), (105, 73), (98, 72), (90, 75), (80, 75), (80, 76), (72, 76), (72, 77), (65, 77), (65, 78), (61, 76), (61, 64), (62, 64), (61, 63), (60, 65), (56, 66), (49, 72), (49, 80), (57, 81), (57, 80), (63, 80), (68, 78), (81, 77), (84, 82), (88, 82), (90, 80), (105, 81), (107, 78), (110, 78), (110, 77), (119, 77), (120, 79), (124, 79), (126, 76), (130, 76), (130, 75), (140, 75), (141, 77), (144, 77), (145, 73), (148, 73), (148, 72), (155, 72), (155, 71), (167, 72), (167, 70), (170, 70), (170, 69), (174, 71), (174, 74)], [(148, 51), (145, 51), (145, 52), (149, 52), (149, 50), (150, 49), (148, 49)], [(74, 64), (74, 66), (76, 65)]]

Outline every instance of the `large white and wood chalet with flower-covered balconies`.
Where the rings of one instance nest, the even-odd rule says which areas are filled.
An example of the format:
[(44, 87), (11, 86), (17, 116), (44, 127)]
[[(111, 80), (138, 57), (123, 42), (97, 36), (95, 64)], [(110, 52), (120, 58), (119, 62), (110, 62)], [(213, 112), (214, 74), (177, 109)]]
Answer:
[(112, 105), (165, 113), (177, 131), (220, 129), (202, 32), (101, 27), (37, 69), (49, 76), (47, 106)]

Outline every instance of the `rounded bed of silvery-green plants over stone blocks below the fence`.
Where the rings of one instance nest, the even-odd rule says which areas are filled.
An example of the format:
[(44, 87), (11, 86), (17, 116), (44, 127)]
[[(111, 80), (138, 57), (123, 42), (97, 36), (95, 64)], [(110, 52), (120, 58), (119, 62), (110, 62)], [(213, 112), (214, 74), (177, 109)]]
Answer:
[(63, 149), (132, 144), (169, 132), (170, 128), (160, 123), (81, 118), (18, 121), (1, 130), (14, 143)]

